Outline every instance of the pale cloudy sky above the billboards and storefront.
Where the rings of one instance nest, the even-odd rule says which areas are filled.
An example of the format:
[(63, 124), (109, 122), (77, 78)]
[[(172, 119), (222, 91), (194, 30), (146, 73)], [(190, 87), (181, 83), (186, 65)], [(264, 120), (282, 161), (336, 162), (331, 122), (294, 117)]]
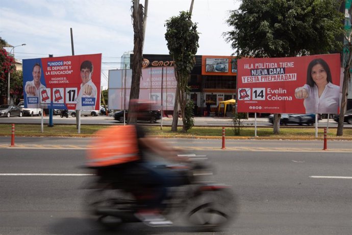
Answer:
[[(0, 37), (17, 46), (16, 59), (102, 53), (102, 86), (108, 71), (120, 68), (124, 52), (133, 51), (131, 0), (1, 0)], [(144, 5), (144, 0), (140, 0)], [(143, 54), (168, 54), (165, 21), (188, 11), (191, 0), (149, 0)], [(239, 0), (194, 0), (192, 21), (197, 23), (197, 55), (230, 56), (222, 33), (230, 10)], [(12, 48), (9, 48), (11, 50)]]

